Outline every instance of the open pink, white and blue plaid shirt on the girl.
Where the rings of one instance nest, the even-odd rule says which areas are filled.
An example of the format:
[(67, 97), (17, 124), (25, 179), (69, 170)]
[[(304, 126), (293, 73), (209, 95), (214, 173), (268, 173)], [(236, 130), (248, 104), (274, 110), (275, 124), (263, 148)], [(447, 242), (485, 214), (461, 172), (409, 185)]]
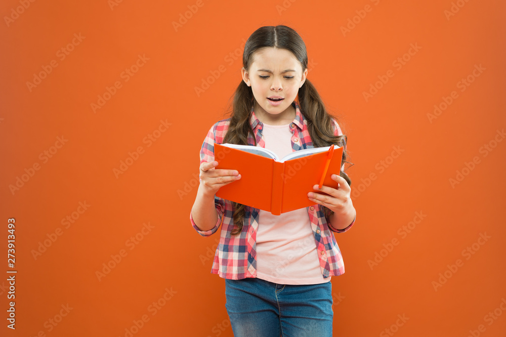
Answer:
[[(297, 102), (293, 102), (292, 106), (296, 108), (296, 117), (289, 125), (293, 133), (291, 137), (292, 149), (293, 151), (298, 151), (301, 149), (313, 148), (314, 146), (311, 142), (307, 127), (307, 120), (301, 113)], [(253, 108), (251, 108), (251, 112), (252, 114), (249, 122), (251, 124), (251, 129), (254, 130), (257, 146), (265, 148), (265, 141), (262, 136), (263, 123), (257, 119)], [(338, 123), (333, 118), (332, 121), (335, 126), (334, 135), (342, 135), (343, 133)], [(214, 160), (214, 143), (223, 144), (223, 139), (229, 124), (230, 118), (223, 119), (216, 122), (209, 130), (202, 144), (202, 148), (200, 149), (200, 163)], [(248, 145), (254, 145), (251, 135), (248, 136)], [(344, 163), (342, 170), (343, 168)], [(335, 229), (330, 226), (323, 213), (323, 208), (320, 208), (320, 206), (320, 204), (315, 203), (306, 208), (315, 237), (316, 250), (320, 260), (320, 270), (323, 278), (327, 278), (329, 276), (341, 275), (345, 272), (341, 250), (332, 232), (346, 232), (355, 223), (356, 217), (348, 227), (344, 229)], [(214, 234), (220, 225), (222, 225), (220, 243), (215, 252), (211, 273), (234, 280), (246, 277), (257, 277), (256, 238), (259, 225), (259, 209), (246, 206), (244, 209), (244, 225), (241, 233), (230, 235), (230, 232), (234, 229), (232, 202), (215, 195), (215, 207), (218, 212), (218, 222), (215, 227), (208, 231), (199, 230), (193, 221), (190, 211), (190, 222), (192, 227), (202, 236)]]

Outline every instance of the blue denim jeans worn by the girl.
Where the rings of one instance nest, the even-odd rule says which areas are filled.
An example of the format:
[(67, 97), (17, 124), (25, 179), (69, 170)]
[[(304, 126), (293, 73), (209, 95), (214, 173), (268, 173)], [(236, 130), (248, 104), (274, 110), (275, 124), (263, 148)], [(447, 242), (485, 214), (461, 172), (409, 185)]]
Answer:
[(332, 284), (277, 284), (225, 279), (235, 337), (332, 336)]

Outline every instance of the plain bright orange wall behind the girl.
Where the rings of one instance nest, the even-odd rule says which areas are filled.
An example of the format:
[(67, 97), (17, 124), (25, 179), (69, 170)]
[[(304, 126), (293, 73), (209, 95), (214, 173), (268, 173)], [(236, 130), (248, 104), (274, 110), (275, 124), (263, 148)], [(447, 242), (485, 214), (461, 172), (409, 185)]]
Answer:
[(113, 1), (0, 5), (0, 334), (232, 335), (199, 150), (244, 41), (285, 24), (354, 163), (334, 335), (505, 335), (506, 3)]

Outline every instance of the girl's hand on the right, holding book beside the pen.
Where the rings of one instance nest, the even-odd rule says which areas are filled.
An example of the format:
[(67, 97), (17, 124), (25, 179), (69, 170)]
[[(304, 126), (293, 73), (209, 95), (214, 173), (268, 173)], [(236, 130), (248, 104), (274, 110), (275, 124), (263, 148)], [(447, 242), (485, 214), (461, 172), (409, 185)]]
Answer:
[[(314, 185), (313, 189), (315, 192), (308, 193), (309, 199), (333, 210), (333, 212), (337, 214), (347, 214), (351, 212), (354, 207), (350, 197), (350, 185), (348, 185), (348, 182), (340, 175), (333, 174), (331, 178), (339, 183), (338, 189), (324, 185), (318, 189), (318, 185)], [(329, 195), (316, 193), (316, 191), (324, 192)]]

